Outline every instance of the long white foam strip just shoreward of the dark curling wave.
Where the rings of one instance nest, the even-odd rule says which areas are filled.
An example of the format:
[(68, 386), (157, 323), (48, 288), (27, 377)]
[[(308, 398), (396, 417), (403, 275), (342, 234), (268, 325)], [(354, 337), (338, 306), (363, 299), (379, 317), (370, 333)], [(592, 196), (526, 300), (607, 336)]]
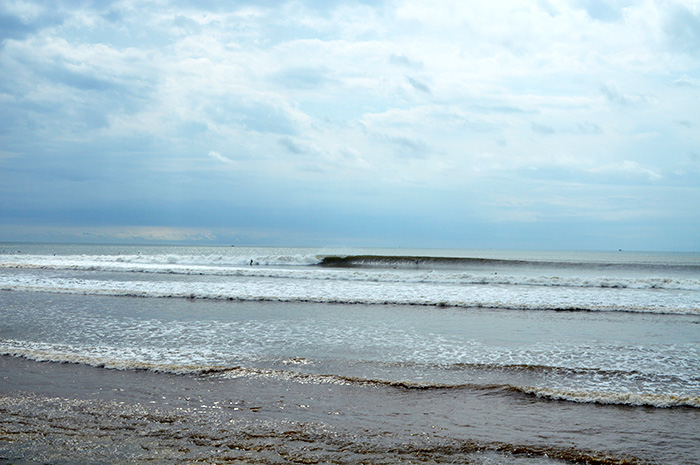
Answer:
[[(544, 289), (544, 288), (543, 288)], [(38, 275), (0, 276), (0, 290), (124, 297), (188, 298), (207, 300), (315, 302), (364, 305), (416, 305), (461, 308), (556, 311), (618, 311), (657, 314), (700, 314), (693, 303), (672, 306), (665, 298), (609, 296), (591, 302), (588, 294), (510, 292), (498, 287), (466, 287), (400, 283), (348, 283), (328, 281), (317, 285), (304, 280), (236, 280), (227, 282), (101, 281)], [(614, 299), (612, 299), (614, 297)], [(664, 296), (661, 296), (664, 297)], [(597, 297), (595, 297), (597, 298)], [(678, 304), (680, 305), (680, 304)]]

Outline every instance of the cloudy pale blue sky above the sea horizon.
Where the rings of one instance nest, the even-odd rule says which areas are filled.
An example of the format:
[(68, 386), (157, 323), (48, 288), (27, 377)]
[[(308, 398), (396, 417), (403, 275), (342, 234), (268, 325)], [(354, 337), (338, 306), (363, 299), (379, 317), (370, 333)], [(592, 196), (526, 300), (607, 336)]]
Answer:
[(0, 0), (0, 241), (700, 251), (700, 1)]

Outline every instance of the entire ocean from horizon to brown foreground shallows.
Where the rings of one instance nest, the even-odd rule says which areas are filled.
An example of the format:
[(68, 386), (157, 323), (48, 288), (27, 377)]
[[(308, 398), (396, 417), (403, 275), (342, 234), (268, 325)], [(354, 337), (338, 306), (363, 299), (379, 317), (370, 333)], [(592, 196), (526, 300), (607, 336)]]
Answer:
[(0, 243), (0, 464), (700, 463), (700, 254)]

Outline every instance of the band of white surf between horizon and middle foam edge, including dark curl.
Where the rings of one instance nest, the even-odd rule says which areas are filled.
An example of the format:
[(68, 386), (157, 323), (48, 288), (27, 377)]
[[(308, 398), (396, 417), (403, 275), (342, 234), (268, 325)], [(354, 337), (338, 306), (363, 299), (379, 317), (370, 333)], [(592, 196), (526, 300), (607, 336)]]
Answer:
[[(282, 302), (441, 305), (504, 309), (700, 312), (697, 256), (568, 254), (533, 259), (371, 254), (308, 249), (168, 249), (111, 254), (0, 254), (2, 290)], [(97, 249), (97, 252), (100, 250)], [(159, 253), (153, 253), (159, 252)], [(341, 251), (342, 252), (342, 251)], [(401, 252), (402, 254), (399, 254)], [(442, 252), (442, 251), (441, 251)], [(448, 251), (448, 253), (451, 251)], [(464, 253), (462, 252), (462, 255)], [(478, 252), (477, 252), (478, 254)], [(533, 255), (530, 253), (530, 255)], [(695, 259), (695, 261), (693, 261)], [(12, 270), (17, 272), (12, 273)], [(55, 271), (57, 273), (48, 273)], [(61, 272), (123, 273), (117, 279)], [(146, 280), (136, 274), (190, 279)], [(201, 277), (192, 279), (192, 277)]]

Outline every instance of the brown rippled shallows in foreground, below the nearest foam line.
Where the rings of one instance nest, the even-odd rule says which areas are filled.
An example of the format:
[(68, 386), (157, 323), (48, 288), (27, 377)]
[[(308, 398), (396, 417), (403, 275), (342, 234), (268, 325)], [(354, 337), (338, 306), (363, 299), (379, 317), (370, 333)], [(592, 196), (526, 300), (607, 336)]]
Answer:
[[(567, 417), (583, 418), (589, 408), (567, 402), (411, 393), (414, 404), (407, 405), (406, 394), (376, 387), (106, 370), (8, 356), (0, 357), (0, 373), (0, 457), (7, 459), (0, 463), (30, 456), (51, 463), (392, 463), (421, 456), (432, 463), (457, 457), (475, 464), (653, 462), (634, 457), (629, 445), (618, 444), (615, 452), (615, 440), (590, 447), (595, 441), (582, 444), (580, 435), (564, 432)], [(452, 419), (450, 410), (456, 411)], [(631, 426), (639, 420), (613, 421), (630, 414), (645, 412), (616, 407), (597, 422)], [(82, 452), (71, 449), (76, 441)]]

